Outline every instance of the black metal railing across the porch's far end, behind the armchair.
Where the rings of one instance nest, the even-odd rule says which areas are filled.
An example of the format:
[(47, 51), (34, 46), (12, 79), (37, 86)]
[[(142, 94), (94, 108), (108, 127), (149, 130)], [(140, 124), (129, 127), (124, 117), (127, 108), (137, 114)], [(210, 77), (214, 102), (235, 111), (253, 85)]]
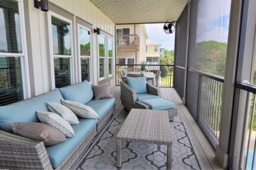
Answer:
[[(122, 81), (122, 70), (128, 75), (129, 72), (141, 72), (141, 64), (116, 64), (116, 85)], [(155, 75), (154, 84), (157, 84), (157, 71), (160, 70), (158, 87), (173, 87), (174, 65), (173, 64), (147, 64), (145, 72), (152, 72)]]

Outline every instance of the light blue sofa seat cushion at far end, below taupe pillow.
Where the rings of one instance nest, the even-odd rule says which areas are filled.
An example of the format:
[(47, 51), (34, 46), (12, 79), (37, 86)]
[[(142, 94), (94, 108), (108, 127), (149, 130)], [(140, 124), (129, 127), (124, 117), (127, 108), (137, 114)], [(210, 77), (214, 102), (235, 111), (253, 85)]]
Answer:
[(85, 105), (90, 106), (97, 112), (99, 118), (102, 118), (107, 112), (115, 107), (115, 98), (105, 98), (101, 100), (91, 100)]

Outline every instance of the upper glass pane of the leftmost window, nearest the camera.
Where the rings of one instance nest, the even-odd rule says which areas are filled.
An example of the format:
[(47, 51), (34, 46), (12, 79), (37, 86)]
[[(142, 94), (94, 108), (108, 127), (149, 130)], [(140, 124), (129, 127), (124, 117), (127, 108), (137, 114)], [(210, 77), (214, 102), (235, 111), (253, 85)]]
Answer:
[(0, 1), (0, 52), (22, 53), (18, 2)]

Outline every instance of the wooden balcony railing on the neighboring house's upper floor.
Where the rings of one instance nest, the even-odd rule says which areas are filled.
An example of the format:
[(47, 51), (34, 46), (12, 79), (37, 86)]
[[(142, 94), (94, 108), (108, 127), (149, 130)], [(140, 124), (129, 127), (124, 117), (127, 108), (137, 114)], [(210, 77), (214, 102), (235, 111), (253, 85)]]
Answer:
[(137, 34), (116, 35), (116, 46), (140, 46), (140, 37)]

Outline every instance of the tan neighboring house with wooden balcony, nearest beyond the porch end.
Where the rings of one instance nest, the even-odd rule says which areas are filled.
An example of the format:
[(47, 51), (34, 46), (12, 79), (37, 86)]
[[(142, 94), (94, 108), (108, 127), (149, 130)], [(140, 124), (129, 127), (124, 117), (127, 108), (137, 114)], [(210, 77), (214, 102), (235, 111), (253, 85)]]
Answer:
[(146, 61), (146, 39), (144, 24), (116, 26), (117, 64), (140, 64)]

